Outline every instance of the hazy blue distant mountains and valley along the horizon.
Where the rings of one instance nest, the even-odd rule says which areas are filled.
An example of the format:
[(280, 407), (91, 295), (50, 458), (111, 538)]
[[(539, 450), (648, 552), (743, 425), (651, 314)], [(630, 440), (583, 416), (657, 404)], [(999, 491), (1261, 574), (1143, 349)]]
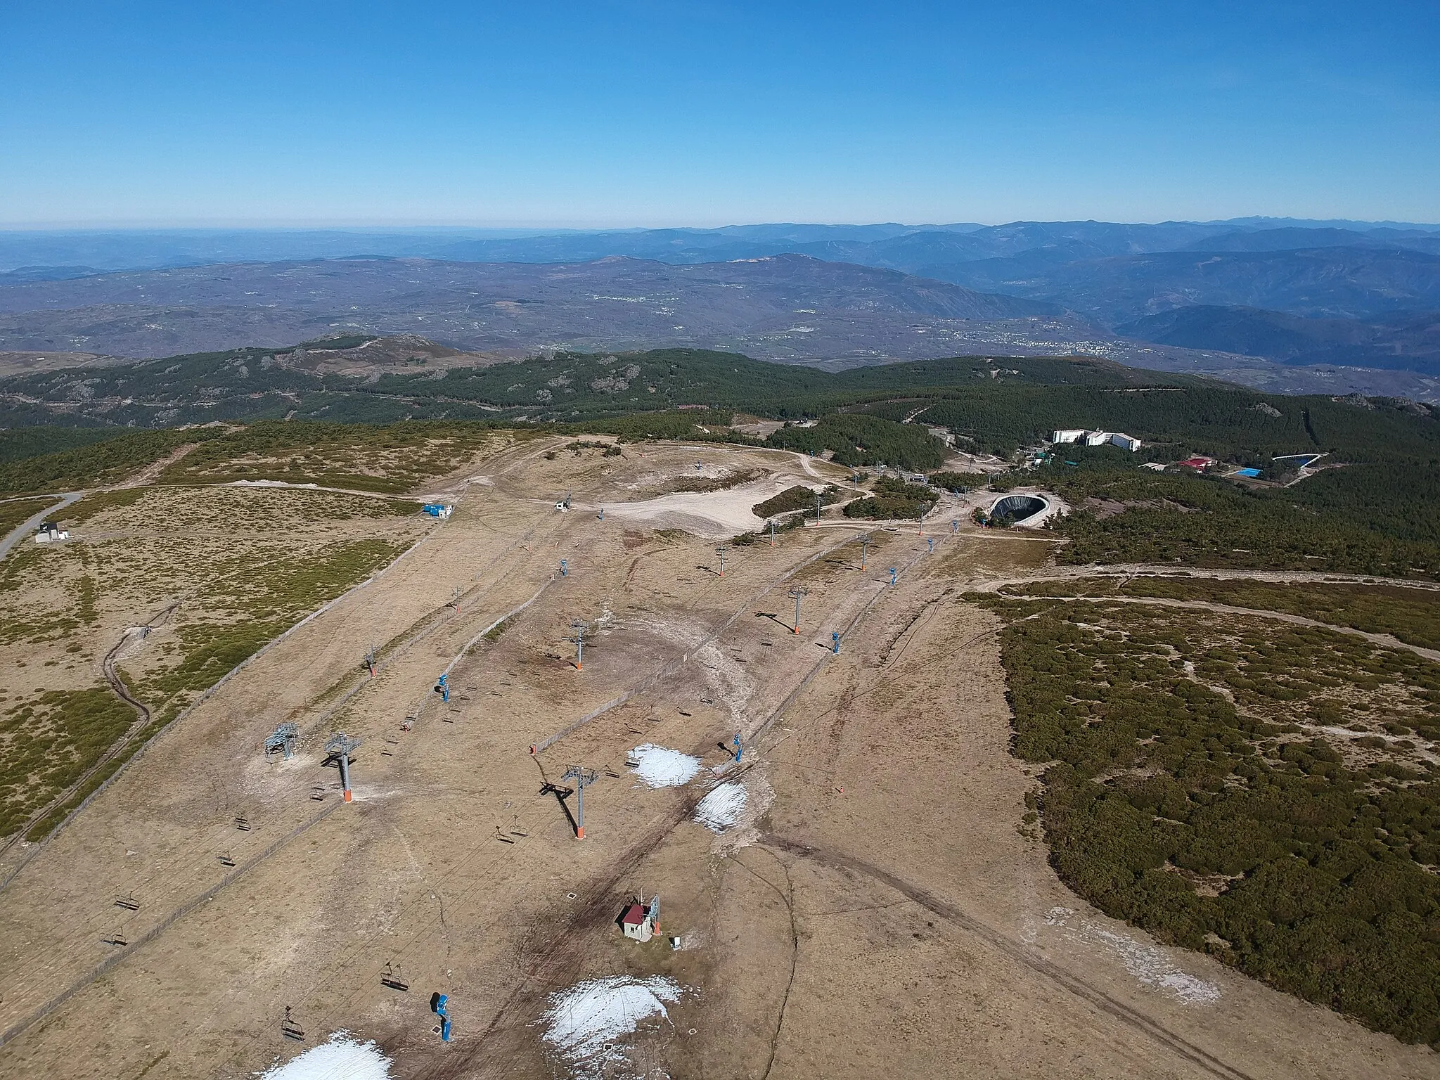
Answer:
[[(1012, 222), (0, 232), (0, 348), (167, 356), (344, 333), (852, 366), (1092, 351), (1270, 389), (1440, 374), (1440, 226)], [(1395, 374), (1295, 372), (1364, 367)]]

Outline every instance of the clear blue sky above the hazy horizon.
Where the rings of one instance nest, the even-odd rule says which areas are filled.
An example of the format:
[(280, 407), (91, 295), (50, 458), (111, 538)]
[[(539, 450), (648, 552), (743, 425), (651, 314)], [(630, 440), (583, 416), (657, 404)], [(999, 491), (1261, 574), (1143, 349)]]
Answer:
[(0, 228), (1440, 220), (1440, 6), (0, 3)]

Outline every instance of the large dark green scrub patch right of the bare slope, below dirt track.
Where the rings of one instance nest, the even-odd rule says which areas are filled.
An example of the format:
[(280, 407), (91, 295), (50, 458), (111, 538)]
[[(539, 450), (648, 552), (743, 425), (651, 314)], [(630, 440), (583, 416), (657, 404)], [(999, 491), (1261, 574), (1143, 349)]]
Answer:
[(1260, 616), (971, 599), (1008, 621), (1014, 747), (1071, 888), (1440, 1045), (1440, 667)]

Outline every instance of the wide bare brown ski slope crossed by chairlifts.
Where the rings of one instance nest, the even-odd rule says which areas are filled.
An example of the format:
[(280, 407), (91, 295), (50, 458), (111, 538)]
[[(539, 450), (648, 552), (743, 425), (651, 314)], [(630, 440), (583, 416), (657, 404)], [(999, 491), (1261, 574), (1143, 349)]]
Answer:
[[(736, 549), (721, 579), (713, 541), (553, 510), (554, 491), (621, 500), (642, 474), (678, 475), (691, 449), (547, 462), (544, 448), (472, 467), (485, 481), (451, 521), (163, 736), (0, 893), (0, 1024), (73, 988), (0, 1048), (0, 1076), (249, 1076), (300, 1048), (279, 1034), (287, 1005), (307, 1045), (340, 1028), (376, 1038), (397, 1076), (569, 1076), (536, 1025), (547, 995), (619, 973), (687, 988), (632, 1051), (675, 1077), (1440, 1074), (1427, 1050), (1156, 949), (1070, 894), (1018, 832), (1032, 780), (1008, 753), (998, 624), (958, 596), (1034, 572), (1047, 541), (943, 537), (888, 589), (880, 567), (914, 559), (919, 537), (877, 533), (861, 572), (857, 546), (829, 550), (844, 530), (806, 528)], [(562, 556), (572, 575), (552, 582)], [(439, 703), (438, 672), (537, 590)], [(829, 631), (867, 605), (827, 660)], [(596, 624), (583, 671), (573, 618)], [(380, 677), (320, 723), (317, 698), (392, 639)], [(528, 753), (685, 652), (652, 690)], [(259, 742), (287, 716), (310, 733), (302, 752), (266, 762)], [(331, 726), (366, 740), (348, 806), (320, 763)], [(732, 775), (755, 799), (773, 789), (747, 837), (691, 821), (707, 773), (649, 789), (625, 768), (651, 742), (719, 769), (737, 730), (750, 740)], [(541, 788), (572, 763), (600, 772), (583, 842), (575, 799)], [(114, 907), (118, 891), (141, 909)], [(613, 919), (635, 893), (660, 893), (665, 933), (694, 948), (624, 942)], [(102, 937), (124, 924), (135, 942), (177, 910), (88, 978), (114, 952)], [(1138, 979), (1135, 956), (1218, 998), (1185, 1004)], [(386, 963), (409, 992), (380, 985)], [(449, 1045), (431, 1034), (432, 991), (451, 995)]]

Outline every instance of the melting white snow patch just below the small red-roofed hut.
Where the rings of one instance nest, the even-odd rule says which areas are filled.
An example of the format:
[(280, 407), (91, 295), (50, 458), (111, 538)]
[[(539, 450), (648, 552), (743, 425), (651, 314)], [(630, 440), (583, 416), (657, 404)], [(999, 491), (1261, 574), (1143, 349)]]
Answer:
[(540, 1017), (546, 1025), (540, 1038), (572, 1064), (586, 1063), (599, 1073), (606, 1063), (624, 1057), (624, 1050), (609, 1044), (621, 1035), (635, 1034), (648, 1017), (668, 1020), (665, 1004), (680, 1001), (680, 984), (665, 975), (585, 979), (550, 995), (550, 1008)]

